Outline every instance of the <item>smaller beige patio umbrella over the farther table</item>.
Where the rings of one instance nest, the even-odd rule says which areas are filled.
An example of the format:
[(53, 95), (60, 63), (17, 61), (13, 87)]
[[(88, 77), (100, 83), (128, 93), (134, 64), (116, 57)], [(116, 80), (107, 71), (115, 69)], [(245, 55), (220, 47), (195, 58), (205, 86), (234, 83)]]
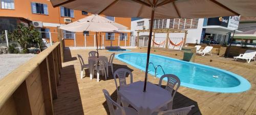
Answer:
[[(92, 31), (96, 32), (97, 52), (98, 52), (98, 38), (97, 32), (115, 32), (126, 30), (127, 27), (120, 25), (112, 20), (109, 20), (100, 15), (90, 15), (74, 21), (68, 25), (61, 26), (60, 29), (71, 32)], [(98, 55), (97, 55), (98, 56)]]

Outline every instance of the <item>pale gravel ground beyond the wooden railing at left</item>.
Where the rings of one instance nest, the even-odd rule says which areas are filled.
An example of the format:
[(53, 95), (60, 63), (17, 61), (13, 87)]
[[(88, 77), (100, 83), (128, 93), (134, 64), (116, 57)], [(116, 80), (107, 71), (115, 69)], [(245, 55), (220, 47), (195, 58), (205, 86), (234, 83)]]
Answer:
[(11, 73), (15, 68), (36, 56), (35, 54), (1, 54), (0, 79)]

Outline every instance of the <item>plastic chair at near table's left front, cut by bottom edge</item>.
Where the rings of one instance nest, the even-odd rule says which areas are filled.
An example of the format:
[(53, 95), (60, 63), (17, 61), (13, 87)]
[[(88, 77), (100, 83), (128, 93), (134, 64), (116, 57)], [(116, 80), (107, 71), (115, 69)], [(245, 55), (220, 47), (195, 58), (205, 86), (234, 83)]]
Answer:
[[(121, 107), (118, 103), (111, 99), (110, 94), (107, 90), (102, 90), (108, 103), (110, 115), (136, 115), (137, 111), (131, 107)], [(116, 107), (116, 109), (114, 108)]]

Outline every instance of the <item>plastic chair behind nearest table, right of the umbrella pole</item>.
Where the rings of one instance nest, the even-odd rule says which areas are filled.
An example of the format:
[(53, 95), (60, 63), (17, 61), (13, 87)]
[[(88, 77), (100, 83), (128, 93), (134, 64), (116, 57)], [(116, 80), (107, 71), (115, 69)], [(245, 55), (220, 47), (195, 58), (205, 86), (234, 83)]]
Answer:
[[(165, 86), (165, 90), (168, 90), (170, 92), (170, 94), (172, 95), (172, 98), (171, 98), (171, 101), (166, 106), (164, 106), (160, 109), (161, 110), (170, 110), (173, 108), (174, 96), (175, 96), (178, 88), (180, 87), (180, 79), (173, 74), (165, 74), (160, 78), (158, 86), (161, 87), (162, 81), (164, 78), (167, 78), (167, 84)], [(176, 88), (175, 88), (175, 86), (176, 86)], [(175, 88), (175, 91), (173, 93), (174, 88)]]

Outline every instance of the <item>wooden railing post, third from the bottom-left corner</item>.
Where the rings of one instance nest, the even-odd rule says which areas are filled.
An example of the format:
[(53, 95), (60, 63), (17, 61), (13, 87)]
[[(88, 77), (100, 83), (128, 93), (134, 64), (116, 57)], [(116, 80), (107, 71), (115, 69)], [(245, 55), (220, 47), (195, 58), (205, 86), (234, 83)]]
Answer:
[(56, 83), (56, 66), (54, 64), (54, 56), (53, 56), (53, 52), (51, 52), (48, 57), (47, 57), (47, 61), (48, 61), (48, 66), (49, 66), (49, 76), (50, 76), (50, 80), (51, 80), (51, 87), (52, 87), (52, 98), (53, 99), (57, 99), (57, 83)]

